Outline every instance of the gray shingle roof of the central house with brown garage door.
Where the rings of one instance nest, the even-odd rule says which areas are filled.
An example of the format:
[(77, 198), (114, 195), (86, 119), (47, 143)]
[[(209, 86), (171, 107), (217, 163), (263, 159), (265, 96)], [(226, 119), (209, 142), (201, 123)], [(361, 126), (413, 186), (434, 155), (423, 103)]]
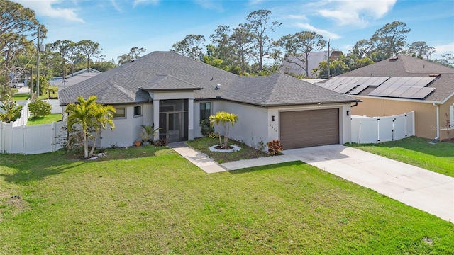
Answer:
[(240, 77), (175, 52), (151, 52), (134, 62), (60, 91), (62, 105), (97, 96), (99, 103), (150, 101), (146, 90), (194, 90), (195, 98), (223, 98), (260, 106), (353, 102), (355, 98), (287, 74)]

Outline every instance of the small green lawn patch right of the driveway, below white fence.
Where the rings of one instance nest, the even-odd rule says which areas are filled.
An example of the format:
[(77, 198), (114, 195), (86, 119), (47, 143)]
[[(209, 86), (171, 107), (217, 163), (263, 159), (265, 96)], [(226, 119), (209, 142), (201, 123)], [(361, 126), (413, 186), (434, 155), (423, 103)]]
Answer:
[(454, 177), (454, 143), (437, 142), (431, 145), (428, 142), (431, 140), (408, 137), (395, 142), (348, 146)]

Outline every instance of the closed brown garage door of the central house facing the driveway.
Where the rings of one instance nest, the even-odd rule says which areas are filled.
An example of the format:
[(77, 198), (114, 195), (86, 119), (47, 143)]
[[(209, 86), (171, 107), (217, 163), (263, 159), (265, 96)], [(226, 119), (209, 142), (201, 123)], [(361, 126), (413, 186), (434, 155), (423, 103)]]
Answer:
[(339, 109), (280, 113), (280, 139), (284, 149), (339, 143)]

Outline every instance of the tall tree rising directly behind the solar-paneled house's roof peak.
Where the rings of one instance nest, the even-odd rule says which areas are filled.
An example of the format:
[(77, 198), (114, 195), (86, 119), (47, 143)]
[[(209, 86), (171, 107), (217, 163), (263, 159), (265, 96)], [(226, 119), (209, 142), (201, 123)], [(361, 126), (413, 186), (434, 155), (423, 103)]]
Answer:
[(370, 43), (372, 48), (384, 59), (399, 55), (406, 45), (406, 34), (410, 32), (406, 23), (394, 21), (375, 31)]

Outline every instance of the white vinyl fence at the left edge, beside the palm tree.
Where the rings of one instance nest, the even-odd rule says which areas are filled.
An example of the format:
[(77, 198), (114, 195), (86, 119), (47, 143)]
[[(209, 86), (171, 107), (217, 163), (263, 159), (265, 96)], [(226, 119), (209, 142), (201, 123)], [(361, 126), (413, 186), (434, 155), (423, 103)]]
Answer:
[(40, 154), (65, 145), (66, 132), (59, 121), (41, 125), (14, 126), (0, 122), (0, 153)]

